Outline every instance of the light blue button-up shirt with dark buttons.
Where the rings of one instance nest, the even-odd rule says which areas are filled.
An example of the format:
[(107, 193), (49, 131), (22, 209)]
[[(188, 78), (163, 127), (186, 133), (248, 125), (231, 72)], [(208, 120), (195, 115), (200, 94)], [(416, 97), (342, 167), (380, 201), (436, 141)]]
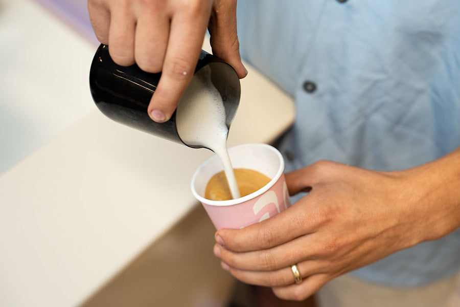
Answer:
[[(296, 101), (286, 171), (406, 169), (460, 146), (459, 0), (240, 0), (237, 17), (242, 57)], [(457, 230), (351, 274), (418, 286), (459, 268)]]

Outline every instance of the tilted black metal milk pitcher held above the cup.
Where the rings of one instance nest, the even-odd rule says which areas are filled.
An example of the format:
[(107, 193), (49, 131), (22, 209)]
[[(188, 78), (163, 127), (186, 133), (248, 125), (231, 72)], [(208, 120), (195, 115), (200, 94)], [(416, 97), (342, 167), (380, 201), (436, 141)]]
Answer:
[[(211, 71), (211, 81), (219, 91), (225, 107), (225, 124), (232, 124), (240, 101), (240, 80), (231, 65), (201, 50), (193, 78), (200, 70)], [(91, 63), (89, 86), (91, 95), (100, 109), (110, 119), (154, 136), (184, 143), (177, 134), (176, 112), (164, 123), (154, 122), (147, 114), (147, 107), (156, 90), (161, 73), (147, 73), (136, 64), (124, 67), (111, 59), (108, 46), (100, 45)], [(182, 101), (189, 103), (187, 97)], [(190, 101), (193, 103), (193, 101)]]

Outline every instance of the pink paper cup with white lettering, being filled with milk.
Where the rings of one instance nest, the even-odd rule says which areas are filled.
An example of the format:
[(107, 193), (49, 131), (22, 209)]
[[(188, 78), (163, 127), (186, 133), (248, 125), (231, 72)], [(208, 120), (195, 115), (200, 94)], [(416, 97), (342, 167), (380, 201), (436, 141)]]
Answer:
[(257, 170), (271, 181), (254, 193), (239, 199), (211, 201), (204, 198), (206, 184), (223, 170), (217, 155), (204, 161), (192, 177), (192, 193), (208, 212), (216, 229), (239, 229), (266, 220), (290, 206), (289, 192), (284, 178), (284, 160), (273, 146), (249, 143), (228, 148), (233, 168)]

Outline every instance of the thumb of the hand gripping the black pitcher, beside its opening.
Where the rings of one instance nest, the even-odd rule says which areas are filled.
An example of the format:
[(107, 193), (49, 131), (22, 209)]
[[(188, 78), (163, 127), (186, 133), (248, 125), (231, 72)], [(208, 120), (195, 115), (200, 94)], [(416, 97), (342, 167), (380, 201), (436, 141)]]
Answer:
[(238, 77), (244, 78), (247, 70), (241, 61), (240, 43), (237, 35), (236, 1), (217, 2), (213, 8), (208, 26), (213, 54), (221, 58), (233, 69)]

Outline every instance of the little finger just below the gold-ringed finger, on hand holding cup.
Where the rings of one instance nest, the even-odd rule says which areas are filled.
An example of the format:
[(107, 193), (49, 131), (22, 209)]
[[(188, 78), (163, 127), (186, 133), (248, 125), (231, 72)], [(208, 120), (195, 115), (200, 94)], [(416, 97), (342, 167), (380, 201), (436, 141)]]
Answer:
[(301, 283), (290, 284), (286, 287), (273, 287), (273, 293), (285, 300), (302, 301), (323, 287), (332, 277), (328, 274), (315, 274), (304, 278)]

